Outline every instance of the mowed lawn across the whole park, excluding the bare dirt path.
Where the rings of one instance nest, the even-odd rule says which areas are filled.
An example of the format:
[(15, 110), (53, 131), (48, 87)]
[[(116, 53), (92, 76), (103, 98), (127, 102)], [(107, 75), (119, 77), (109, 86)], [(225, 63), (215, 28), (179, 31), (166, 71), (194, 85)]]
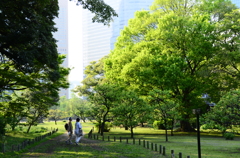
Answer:
[[(74, 124), (75, 121), (73, 121)], [(54, 122), (46, 122), (43, 124), (39, 124), (34, 128), (58, 128), (57, 134), (63, 134), (64, 122), (58, 121), (57, 125)], [(83, 130), (86, 133), (85, 137), (87, 137), (87, 133), (94, 127), (94, 124), (91, 122), (82, 123)], [(34, 130), (33, 130), (34, 131)], [(125, 130), (124, 128), (116, 127), (111, 129), (110, 132), (104, 133), (105, 141), (102, 140), (102, 137), (99, 136), (99, 144), (101, 147), (100, 150), (94, 150), (92, 147), (87, 144), (78, 146), (69, 147), (69, 146), (61, 146), (56, 149), (56, 151), (47, 157), (163, 157), (158, 152), (153, 152), (146, 147), (143, 147), (142, 141), (149, 141), (150, 143), (154, 143), (166, 147), (167, 157), (170, 157), (171, 150), (175, 152), (175, 158), (178, 157), (178, 153), (181, 152), (184, 157), (191, 156), (191, 158), (198, 157), (198, 149), (197, 149), (197, 136), (196, 133), (186, 133), (186, 132), (174, 132), (174, 136), (168, 137), (168, 142), (165, 141), (165, 135), (163, 130), (154, 130), (152, 128), (145, 127), (137, 127), (134, 129), (134, 138), (135, 145), (133, 145), (133, 140), (130, 139), (130, 131)], [(21, 142), (25, 139), (31, 139), (39, 135), (43, 135), (44, 133), (7, 133), (7, 145), (11, 145), (13, 143)], [(95, 129), (93, 132), (94, 135), (97, 135), (97, 130)], [(170, 131), (169, 131), (170, 134)], [(110, 137), (110, 142), (108, 142), (108, 136)], [(116, 142), (113, 141), (113, 137), (116, 137)], [(120, 136), (123, 138), (122, 142), (119, 142)], [(53, 136), (54, 137), (54, 136)], [(129, 144), (126, 144), (126, 139), (128, 138)], [(138, 139), (141, 140), (141, 145), (138, 144)], [(46, 139), (47, 140), (47, 139)], [(43, 140), (44, 141), (44, 140)], [(39, 142), (41, 143), (41, 142)], [(39, 144), (37, 143), (37, 144)], [(31, 145), (26, 150), (22, 152), (27, 152), (27, 150), (31, 147), (36, 146)], [(202, 158), (240, 158), (240, 138), (237, 136), (234, 140), (225, 140), (220, 133), (201, 133), (201, 153)], [(42, 149), (44, 150), (44, 149)], [(21, 152), (20, 152), (21, 153)], [(153, 154), (155, 153), (155, 154)], [(15, 153), (15, 156), (19, 153)], [(3, 155), (0, 154), (0, 157), (7, 156), (8, 154)], [(12, 154), (11, 154), (12, 155)], [(14, 157), (15, 157), (14, 156)], [(13, 157), (13, 155), (12, 155)]]

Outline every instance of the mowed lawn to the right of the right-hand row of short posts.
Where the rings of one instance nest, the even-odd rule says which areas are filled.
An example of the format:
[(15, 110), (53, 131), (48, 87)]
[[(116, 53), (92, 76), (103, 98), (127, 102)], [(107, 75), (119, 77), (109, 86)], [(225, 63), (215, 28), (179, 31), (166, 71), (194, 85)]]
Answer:
[[(170, 131), (168, 133), (170, 135)], [(96, 131), (93, 134), (97, 134)], [(118, 142), (120, 137), (122, 137), (122, 143), (126, 142), (125, 138), (129, 138), (128, 142), (133, 144), (133, 140), (130, 139), (130, 131), (124, 128), (113, 128), (109, 133), (105, 133), (105, 141), (107, 141), (108, 136), (111, 141), (114, 141), (115, 136)], [(145, 142), (149, 141), (149, 143), (154, 143), (158, 146), (165, 146), (168, 156), (170, 156), (171, 150), (174, 150), (175, 157), (178, 157), (179, 152), (182, 153), (183, 157), (198, 157), (197, 136), (194, 132), (174, 132), (174, 136), (168, 136), (168, 142), (166, 142), (164, 130), (138, 127), (134, 129), (134, 138), (135, 144), (138, 144), (140, 139), (142, 144), (143, 140), (145, 140)], [(98, 139), (102, 140), (102, 137), (99, 136)], [(225, 140), (221, 133), (201, 133), (201, 155), (203, 158), (240, 158), (239, 144), (239, 136), (236, 136), (234, 140)]]

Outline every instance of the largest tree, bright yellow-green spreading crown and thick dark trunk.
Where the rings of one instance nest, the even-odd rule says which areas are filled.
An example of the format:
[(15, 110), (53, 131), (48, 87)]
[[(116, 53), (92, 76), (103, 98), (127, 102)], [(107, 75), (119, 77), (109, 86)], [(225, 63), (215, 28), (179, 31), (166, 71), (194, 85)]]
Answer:
[(143, 96), (154, 88), (170, 90), (182, 130), (194, 131), (192, 109), (206, 111), (202, 93), (217, 102), (222, 92), (239, 87), (240, 14), (234, 9), (225, 0), (156, 0), (122, 30), (105, 60), (106, 78)]

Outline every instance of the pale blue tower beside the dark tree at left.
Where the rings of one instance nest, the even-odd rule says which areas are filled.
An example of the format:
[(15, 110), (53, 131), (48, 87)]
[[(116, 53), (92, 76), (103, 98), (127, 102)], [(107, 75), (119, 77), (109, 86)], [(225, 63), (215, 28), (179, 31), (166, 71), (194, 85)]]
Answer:
[[(58, 31), (54, 33), (54, 37), (57, 40), (58, 53), (66, 55), (62, 65), (68, 67), (68, 0), (58, 0), (58, 5), (59, 15), (54, 20)], [(61, 89), (59, 95), (69, 98), (69, 89)]]

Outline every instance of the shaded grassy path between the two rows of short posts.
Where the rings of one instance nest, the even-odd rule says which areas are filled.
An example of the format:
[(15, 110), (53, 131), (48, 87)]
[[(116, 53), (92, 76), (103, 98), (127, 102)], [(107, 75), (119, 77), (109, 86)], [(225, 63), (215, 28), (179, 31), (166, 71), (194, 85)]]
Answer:
[[(31, 149), (28, 152), (22, 153), (16, 157), (21, 158), (54, 158), (54, 157), (98, 157), (98, 158), (128, 158), (128, 157), (152, 157), (161, 158), (162, 155), (157, 152), (151, 152), (147, 149), (139, 151), (138, 154), (132, 154), (132, 145), (128, 145), (129, 148), (124, 144), (124, 146), (129, 150), (122, 150), (121, 145), (116, 142), (116, 145), (108, 142), (102, 142), (99, 140), (92, 140), (88, 138), (82, 138), (80, 144), (77, 146), (75, 144), (66, 144), (67, 134), (64, 133), (55, 138), (47, 140)], [(74, 140), (74, 138), (73, 138)], [(122, 144), (123, 145), (123, 144)], [(115, 148), (116, 147), (116, 148)], [(117, 149), (118, 148), (118, 149)]]

